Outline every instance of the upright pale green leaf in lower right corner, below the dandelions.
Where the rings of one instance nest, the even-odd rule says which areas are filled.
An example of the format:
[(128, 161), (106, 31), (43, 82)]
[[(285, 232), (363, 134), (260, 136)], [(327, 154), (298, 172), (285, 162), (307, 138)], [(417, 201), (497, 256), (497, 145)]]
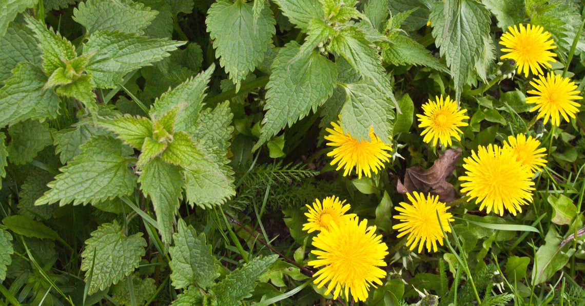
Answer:
[(549, 280), (569, 262), (569, 255), (566, 253), (567, 246), (560, 245), (562, 240), (555, 228), (550, 227), (546, 233), (545, 244), (536, 251), (535, 267), (532, 269), (532, 286)]

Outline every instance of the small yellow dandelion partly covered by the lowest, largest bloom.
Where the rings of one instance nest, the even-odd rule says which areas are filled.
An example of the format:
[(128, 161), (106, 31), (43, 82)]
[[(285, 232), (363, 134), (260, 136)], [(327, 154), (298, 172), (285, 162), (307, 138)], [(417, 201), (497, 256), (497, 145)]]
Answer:
[(323, 203), (315, 199), (312, 207), (307, 205), (309, 212), (305, 215), (309, 222), (302, 225), (302, 230), (307, 232), (328, 230), (331, 222), (340, 224), (343, 220), (355, 217), (356, 214), (345, 214), (350, 205), (343, 205), (344, 203), (345, 200), (340, 201), (336, 196), (326, 197)]

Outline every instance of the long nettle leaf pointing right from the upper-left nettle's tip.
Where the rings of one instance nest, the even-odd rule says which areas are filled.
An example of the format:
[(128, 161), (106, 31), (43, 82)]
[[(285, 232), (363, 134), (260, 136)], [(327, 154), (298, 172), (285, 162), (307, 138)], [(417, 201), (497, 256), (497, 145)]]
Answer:
[(95, 52), (87, 65), (99, 88), (115, 88), (123, 76), (168, 57), (183, 41), (149, 39), (132, 33), (98, 31), (85, 44), (84, 53)]

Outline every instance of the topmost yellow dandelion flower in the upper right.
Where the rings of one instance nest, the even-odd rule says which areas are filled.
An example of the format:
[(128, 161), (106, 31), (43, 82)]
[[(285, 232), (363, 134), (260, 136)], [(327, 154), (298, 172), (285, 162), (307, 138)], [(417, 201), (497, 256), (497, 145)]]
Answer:
[(502, 52), (508, 52), (501, 56), (501, 59), (511, 58), (518, 66), (518, 73), (524, 72), (528, 77), (528, 71), (532, 74), (543, 74), (541, 65), (551, 68), (549, 61), (555, 61), (553, 57), (556, 56), (548, 50), (556, 48), (550, 33), (545, 31), (541, 26), (520, 24), (518, 27), (509, 26), (508, 32), (501, 37), (500, 44)]

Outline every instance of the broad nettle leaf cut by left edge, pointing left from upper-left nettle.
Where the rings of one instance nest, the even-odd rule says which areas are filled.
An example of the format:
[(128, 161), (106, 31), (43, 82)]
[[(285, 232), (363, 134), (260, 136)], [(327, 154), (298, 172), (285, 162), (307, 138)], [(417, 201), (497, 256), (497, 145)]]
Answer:
[(50, 89), (42, 90), (46, 81), (40, 68), (27, 62), (16, 65), (0, 88), (0, 126), (57, 117), (59, 98)]

